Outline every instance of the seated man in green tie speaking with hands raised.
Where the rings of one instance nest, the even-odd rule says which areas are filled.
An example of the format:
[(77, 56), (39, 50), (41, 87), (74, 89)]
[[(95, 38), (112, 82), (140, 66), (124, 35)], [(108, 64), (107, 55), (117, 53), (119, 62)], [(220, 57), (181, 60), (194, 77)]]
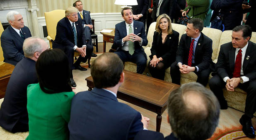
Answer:
[(137, 65), (137, 73), (142, 74), (146, 68), (147, 55), (142, 46), (147, 45), (147, 36), (144, 24), (133, 20), (133, 10), (124, 7), (121, 11), (125, 21), (116, 24), (113, 47), (115, 54), (123, 62), (131, 61)]

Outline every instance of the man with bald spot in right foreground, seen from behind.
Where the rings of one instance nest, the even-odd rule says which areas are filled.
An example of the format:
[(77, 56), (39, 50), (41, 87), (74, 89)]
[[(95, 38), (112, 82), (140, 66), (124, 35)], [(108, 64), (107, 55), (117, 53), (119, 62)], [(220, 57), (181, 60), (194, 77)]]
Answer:
[(140, 131), (134, 140), (206, 140), (219, 123), (220, 104), (212, 91), (191, 82), (170, 93), (167, 121), (172, 133)]

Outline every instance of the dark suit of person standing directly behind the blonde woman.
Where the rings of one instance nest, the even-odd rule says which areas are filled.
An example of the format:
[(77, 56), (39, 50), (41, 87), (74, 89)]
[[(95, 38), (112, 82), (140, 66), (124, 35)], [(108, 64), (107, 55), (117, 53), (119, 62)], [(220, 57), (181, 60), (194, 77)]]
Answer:
[[(153, 0), (153, 12), (152, 12), (152, 19), (153, 21), (157, 21), (157, 7), (160, 0)], [(161, 14), (167, 14), (171, 21), (174, 19), (175, 15), (175, 7), (176, 7), (176, 1), (177, 0), (163, 0), (162, 5), (159, 9), (159, 15)]]

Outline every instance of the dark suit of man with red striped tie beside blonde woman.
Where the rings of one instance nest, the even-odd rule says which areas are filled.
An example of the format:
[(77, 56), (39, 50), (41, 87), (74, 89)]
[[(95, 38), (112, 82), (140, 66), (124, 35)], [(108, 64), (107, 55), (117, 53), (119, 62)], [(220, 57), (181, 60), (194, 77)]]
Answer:
[[(188, 65), (188, 54), (191, 44), (191, 37), (186, 34), (181, 36), (181, 40), (179, 42), (178, 51), (176, 54), (176, 62), (171, 64), (171, 81), (175, 84), (180, 84), (180, 71), (177, 63), (181, 62), (182, 64)], [(194, 71), (198, 76), (196, 82), (207, 85), (210, 75), (210, 64), (212, 62), (212, 53), (213, 53), (213, 41), (201, 33), (198, 42), (196, 44), (195, 51), (195, 59), (194, 63), (192, 63), (192, 67), (197, 66), (199, 71)]]

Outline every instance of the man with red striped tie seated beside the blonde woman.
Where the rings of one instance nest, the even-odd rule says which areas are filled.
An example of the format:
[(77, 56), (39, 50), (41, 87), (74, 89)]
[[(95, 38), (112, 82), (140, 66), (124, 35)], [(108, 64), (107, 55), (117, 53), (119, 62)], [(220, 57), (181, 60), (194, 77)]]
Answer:
[(213, 41), (202, 33), (203, 21), (190, 19), (187, 24), (186, 34), (181, 36), (176, 54), (176, 61), (171, 64), (171, 81), (180, 84), (180, 73), (195, 72), (196, 82), (207, 85), (212, 61)]

